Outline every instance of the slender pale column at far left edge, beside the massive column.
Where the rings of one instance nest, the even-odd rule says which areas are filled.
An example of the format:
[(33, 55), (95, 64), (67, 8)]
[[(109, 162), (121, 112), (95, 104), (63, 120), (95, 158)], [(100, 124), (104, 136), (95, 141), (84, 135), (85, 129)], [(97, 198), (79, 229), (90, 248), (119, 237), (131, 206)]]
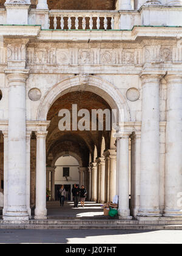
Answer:
[(4, 135), (4, 208), (2, 215), (5, 215), (7, 209), (7, 194), (8, 194), (8, 130), (2, 131)]

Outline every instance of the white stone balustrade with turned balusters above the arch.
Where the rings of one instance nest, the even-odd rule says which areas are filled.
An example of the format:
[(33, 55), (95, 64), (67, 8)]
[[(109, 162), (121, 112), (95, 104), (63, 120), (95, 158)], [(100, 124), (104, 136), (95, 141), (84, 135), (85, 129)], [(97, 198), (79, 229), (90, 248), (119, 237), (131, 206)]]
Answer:
[(50, 10), (49, 29), (119, 29), (118, 11)]

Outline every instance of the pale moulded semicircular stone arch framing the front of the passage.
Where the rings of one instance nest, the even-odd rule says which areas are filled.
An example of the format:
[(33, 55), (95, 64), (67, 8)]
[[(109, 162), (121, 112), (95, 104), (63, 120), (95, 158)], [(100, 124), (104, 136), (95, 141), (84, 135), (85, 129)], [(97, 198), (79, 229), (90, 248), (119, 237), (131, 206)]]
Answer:
[[(45, 94), (39, 105), (37, 120), (45, 121), (52, 104), (62, 95), (72, 91), (90, 91), (101, 96), (112, 109), (118, 110), (117, 122), (130, 121), (129, 107), (120, 90), (98, 76), (78, 75), (61, 80)], [(124, 120), (123, 120), (124, 118)]]

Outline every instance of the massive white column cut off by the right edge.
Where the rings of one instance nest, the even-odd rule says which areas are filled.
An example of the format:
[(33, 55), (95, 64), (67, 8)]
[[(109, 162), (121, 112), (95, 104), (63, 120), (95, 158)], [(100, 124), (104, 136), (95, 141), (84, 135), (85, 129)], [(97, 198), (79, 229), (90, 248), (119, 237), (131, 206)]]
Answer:
[(182, 74), (169, 74), (167, 82), (166, 123), (166, 217), (182, 217)]

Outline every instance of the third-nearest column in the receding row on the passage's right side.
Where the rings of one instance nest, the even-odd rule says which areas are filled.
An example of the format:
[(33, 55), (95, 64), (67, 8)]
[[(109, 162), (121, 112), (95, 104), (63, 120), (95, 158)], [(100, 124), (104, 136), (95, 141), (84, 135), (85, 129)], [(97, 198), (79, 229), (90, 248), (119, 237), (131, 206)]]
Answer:
[(104, 204), (106, 202), (105, 197), (105, 160), (104, 157), (99, 158), (99, 165), (100, 165), (100, 179), (99, 179), (99, 202)]

